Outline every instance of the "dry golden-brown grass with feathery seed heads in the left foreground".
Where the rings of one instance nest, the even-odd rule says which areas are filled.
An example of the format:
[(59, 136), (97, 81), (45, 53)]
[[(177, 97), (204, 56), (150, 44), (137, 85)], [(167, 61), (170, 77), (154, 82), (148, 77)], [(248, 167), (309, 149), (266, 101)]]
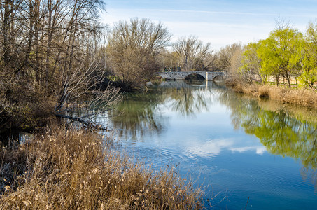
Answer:
[[(110, 144), (110, 145), (109, 145)], [(0, 209), (199, 209), (173, 169), (153, 172), (85, 130), (55, 129), (1, 148)]]

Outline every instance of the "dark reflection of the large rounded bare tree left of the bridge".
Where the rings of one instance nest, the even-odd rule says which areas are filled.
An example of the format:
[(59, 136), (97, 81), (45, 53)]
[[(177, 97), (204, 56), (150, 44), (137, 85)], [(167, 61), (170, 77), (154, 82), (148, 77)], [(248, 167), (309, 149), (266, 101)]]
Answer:
[(123, 102), (109, 114), (113, 128), (118, 131), (118, 137), (136, 141), (145, 134), (160, 134), (167, 124), (167, 119), (157, 109), (161, 101), (160, 91), (126, 95)]

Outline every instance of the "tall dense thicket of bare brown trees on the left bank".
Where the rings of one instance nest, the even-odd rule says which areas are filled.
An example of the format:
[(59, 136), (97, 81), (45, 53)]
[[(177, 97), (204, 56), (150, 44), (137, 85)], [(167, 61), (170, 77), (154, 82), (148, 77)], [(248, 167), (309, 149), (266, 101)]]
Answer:
[(106, 76), (100, 10), (102, 0), (1, 1), (3, 121), (19, 124), (34, 116), (65, 115), (65, 106), (96, 92)]

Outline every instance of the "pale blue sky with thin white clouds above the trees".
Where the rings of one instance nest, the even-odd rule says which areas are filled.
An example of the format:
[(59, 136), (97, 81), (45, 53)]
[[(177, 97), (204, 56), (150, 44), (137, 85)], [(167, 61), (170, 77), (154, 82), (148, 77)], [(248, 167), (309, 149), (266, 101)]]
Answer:
[(162, 22), (173, 34), (195, 35), (212, 48), (240, 41), (245, 44), (267, 38), (281, 18), (305, 32), (317, 18), (317, 0), (105, 0), (103, 22), (113, 26), (119, 20), (148, 18)]

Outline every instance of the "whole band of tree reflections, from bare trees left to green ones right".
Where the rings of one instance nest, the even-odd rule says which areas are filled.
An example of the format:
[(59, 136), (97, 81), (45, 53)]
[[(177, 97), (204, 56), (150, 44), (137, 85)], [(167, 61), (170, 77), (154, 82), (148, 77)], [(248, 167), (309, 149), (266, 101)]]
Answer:
[(299, 160), (303, 176), (317, 183), (317, 111), (314, 109), (241, 96), (214, 83), (207, 87), (206, 82), (176, 81), (127, 96), (111, 111), (110, 120), (119, 137), (139, 141), (145, 135), (160, 136), (168, 127), (169, 117), (162, 114), (163, 109), (192, 118), (196, 113), (209, 111), (214, 101), (230, 108), (236, 129), (243, 128), (258, 137), (269, 153)]

